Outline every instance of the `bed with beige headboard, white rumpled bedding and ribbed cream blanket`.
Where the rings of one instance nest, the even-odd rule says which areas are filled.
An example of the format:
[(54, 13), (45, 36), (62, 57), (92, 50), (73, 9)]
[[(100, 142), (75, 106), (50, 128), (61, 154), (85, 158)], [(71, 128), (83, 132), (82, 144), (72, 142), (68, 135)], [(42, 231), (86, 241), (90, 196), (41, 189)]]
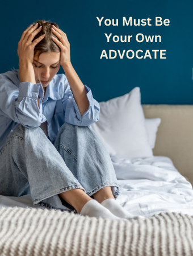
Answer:
[(145, 220), (90, 218), (34, 206), (31, 195), (0, 196), (0, 255), (193, 255), (193, 106), (142, 110), (161, 118), (153, 155), (107, 149), (120, 186), (116, 200)]

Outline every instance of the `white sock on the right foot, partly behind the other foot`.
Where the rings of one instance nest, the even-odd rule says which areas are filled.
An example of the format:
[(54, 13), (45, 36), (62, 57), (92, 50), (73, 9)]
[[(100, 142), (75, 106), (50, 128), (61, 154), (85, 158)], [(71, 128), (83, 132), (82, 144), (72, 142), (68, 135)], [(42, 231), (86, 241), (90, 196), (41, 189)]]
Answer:
[(101, 203), (103, 205), (103, 207), (106, 207), (108, 210), (110, 210), (110, 212), (112, 214), (114, 214), (115, 216), (118, 216), (120, 218), (136, 218), (139, 217), (141, 219), (145, 219), (144, 216), (136, 216), (133, 215), (131, 213), (129, 213), (127, 210), (125, 210), (123, 207), (121, 207), (120, 204), (118, 204), (118, 202), (115, 199), (106, 199), (104, 201), (102, 201)]

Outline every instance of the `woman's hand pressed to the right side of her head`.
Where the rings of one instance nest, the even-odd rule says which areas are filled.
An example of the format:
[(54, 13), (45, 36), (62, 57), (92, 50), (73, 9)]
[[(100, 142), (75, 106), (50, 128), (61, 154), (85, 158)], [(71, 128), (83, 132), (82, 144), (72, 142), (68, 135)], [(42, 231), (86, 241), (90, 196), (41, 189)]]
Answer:
[(68, 38), (67, 38), (66, 34), (62, 30), (55, 27), (54, 25), (52, 25), (52, 26), (53, 26), (52, 27), (53, 34), (56, 35), (58, 39), (60, 39), (60, 41), (58, 41), (57, 38), (54, 38), (52, 36), (53, 42), (55, 42), (61, 49), (60, 65), (62, 67), (68, 66), (71, 64), (71, 62), (70, 62), (70, 43), (68, 42)]

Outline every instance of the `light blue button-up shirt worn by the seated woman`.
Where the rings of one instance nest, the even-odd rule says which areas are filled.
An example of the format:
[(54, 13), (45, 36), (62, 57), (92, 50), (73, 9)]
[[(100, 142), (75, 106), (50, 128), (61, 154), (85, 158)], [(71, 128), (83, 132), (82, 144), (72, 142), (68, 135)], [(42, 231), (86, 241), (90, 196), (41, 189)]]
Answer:
[[(64, 122), (89, 126), (99, 119), (99, 102), (87, 90), (89, 108), (81, 116), (69, 82), (64, 74), (56, 74), (49, 82), (44, 96), (41, 83), (20, 82), (19, 69), (0, 74), (0, 151), (15, 127), (21, 123), (31, 129), (48, 122), (48, 136), (52, 143)], [(40, 97), (40, 108), (37, 97)]]

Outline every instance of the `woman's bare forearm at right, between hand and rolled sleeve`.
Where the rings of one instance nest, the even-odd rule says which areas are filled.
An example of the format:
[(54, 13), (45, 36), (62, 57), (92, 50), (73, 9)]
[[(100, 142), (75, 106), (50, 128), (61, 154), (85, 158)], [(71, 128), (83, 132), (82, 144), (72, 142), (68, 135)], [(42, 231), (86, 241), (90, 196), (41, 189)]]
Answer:
[(71, 63), (69, 65), (62, 66), (62, 68), (64, 69), (65, 75), (68, 79), (70, 89), (72, 90), (74, 100), (78, 105), (79, 112), (83, 115), (83, 113), (85, 113), (89, 108), (89, 100), (86, 96), (87, 90), (79, 79)]

